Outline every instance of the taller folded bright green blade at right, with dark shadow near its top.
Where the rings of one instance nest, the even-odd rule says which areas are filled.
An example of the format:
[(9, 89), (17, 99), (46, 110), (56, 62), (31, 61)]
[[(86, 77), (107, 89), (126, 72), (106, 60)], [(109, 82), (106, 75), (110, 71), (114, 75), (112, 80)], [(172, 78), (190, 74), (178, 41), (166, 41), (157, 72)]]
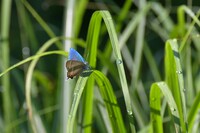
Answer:
[(165, 48), (165, 74), (166, 82), (172, 91), (176, 101), (180, 117), (180, 127), (182, 132), (186, 132), (186, 103), (183, 73), (180, 65), (178, 44), (176, 40), (168, 40)]

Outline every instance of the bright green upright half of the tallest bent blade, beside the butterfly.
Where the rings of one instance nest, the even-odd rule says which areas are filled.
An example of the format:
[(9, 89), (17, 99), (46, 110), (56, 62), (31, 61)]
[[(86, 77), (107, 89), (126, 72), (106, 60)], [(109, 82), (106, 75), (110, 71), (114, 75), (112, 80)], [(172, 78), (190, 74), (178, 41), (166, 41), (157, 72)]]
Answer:
[[(101, 16), (99, 12), (95, 12), (92, 15), (90, 20), (89, 28), (88, 28), (88, 35), (87, 35), (87, 46), (86, 46), (86, 58), (90, 66), (94, 69), (96, 67), (96, 59), (97, 59), (97, 46), (99, 40), (99, 33), (101, 27)], [(85, 88), (85, 99), (83, 106), (83, 128), (84, 132), (90, 133), (91, 132), (91, 125), (92, 123), (92, 112), (93, 112), (93, 89), (94, 89), (94, 79), (93, 77), (89, 78), (89, 81)]]

